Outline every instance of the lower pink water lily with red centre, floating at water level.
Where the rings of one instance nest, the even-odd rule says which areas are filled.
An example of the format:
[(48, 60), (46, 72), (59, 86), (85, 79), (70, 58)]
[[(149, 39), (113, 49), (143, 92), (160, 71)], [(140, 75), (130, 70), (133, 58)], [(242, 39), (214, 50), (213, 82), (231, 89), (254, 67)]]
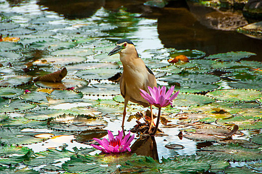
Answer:
[(129, 131), (129, 133), (123, 138), (123, 131), (118, 131), (118, 135), (114, 138), (112, 132), (110, 132), (109, 130), (107, 130), (107, 132), (109, 141), (106, 138), (104, 138), (103, 140), (93, 138), (100, 144), (100, 146), (94, 144), (91, 144), (91, 146), (107, 154), (120, 153), (125, 151), (131, 152), (129, 145), (135, 138), (134, 134), (130, 137)]

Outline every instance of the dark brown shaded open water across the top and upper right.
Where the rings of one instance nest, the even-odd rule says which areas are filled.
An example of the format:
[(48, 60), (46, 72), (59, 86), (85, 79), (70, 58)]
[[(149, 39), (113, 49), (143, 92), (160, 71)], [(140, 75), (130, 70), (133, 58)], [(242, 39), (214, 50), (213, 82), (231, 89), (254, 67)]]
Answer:
[(56, 11), (66, 18), (86, 18), (100, 7), (116, 11), (124, 6), (132, 13), (142, 13), (143, 17), (158, 19), (158, 33), (166, 48), (197, 49), (206, 55), (230, 51), (256, 53), (248, 60), (262, 61), (262, 40), (250, 38), (236, 31), (222, 31), (201, 24), (199, 16), (214, 10), (199, 7), (185, 0), (171, 1), (165, 8), (143, 5), (145, 0), (39, 0), (38, 4)]

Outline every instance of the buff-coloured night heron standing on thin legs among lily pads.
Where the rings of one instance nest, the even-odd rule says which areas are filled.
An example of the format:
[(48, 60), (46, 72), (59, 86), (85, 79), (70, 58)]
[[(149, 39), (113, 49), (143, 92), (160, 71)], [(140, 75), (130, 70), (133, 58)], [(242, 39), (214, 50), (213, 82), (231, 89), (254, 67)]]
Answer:
[(144, 61), (139, 58), (136, 47), (128, 39), (117, 41), (116, 47), (108, 54), (108, 56), (119, 53), (120, 61), (123, 64), (123, 74), (120, 78), (120, 92), (125, 99), (122, 128), (124, 127), (126, 116), (126, 105), (128, 101), (141, 104), (144, 107), (150, 106), (151, 125), (153, 123), (152, 104), (140, 95), (140, 89), (149, 93), (149, 87), (157, 87), (157, 81), (153, 72), (145, 65)]

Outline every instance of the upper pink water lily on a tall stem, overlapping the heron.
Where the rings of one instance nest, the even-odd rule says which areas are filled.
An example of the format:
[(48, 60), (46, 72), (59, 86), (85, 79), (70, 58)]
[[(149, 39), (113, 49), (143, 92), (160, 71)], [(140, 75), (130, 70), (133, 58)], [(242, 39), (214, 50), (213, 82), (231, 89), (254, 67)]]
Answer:
[(174, 93), (174, 95), (171, 96), (172, 92), (175, 89), (175, 86), (172, 86), (166, 93), (167, 88), (165, 86), (163, 87), (154, 87), (153, 89), (151, 87), (148, 87), (150, 94), (147, 93), (145, 90), (140, 89), (140, 94), (142, 97), (144, 97), (149, 103), (153, 104), (156, 107), (166, 107), (171, 104), (172, 106), (172, 100), (175, 99), (175, 97), (178, 95), (179, 90)]

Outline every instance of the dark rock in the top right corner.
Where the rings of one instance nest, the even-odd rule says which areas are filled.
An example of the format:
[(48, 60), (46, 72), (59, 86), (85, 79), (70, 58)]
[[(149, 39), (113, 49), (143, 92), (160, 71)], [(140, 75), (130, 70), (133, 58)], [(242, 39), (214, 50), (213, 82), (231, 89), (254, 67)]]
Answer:
[(262, 20), (262, 0), (249, 0), (243, 9), (243, 15), (251, 21)]

